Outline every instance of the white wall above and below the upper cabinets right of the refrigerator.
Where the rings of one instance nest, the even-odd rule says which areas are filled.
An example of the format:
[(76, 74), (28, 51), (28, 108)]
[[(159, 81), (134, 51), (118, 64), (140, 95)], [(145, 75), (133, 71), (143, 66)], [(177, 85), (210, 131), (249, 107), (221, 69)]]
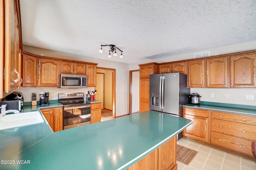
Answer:
[[(225, 47), (204, 49), (201, 51), (194, 51), (192, 53), (185, 53), (185, 54), (174, 55), (170, 57), (163, 57), (163, 58), (154, 59), (154, 60), (147, 60), (140, 63), (133, 63), (133, 64), (129, 64), (129, 70), (139, 69), (140, 67), (138, 66), (138, 64), (151, 63), (151, 62), (164, 63), (164, 62), (170, 62), (170, 61), (180, 61), (184, 59), (193, 59), (194, 53), (199, 53), (203, 51), (210, 51), (210, 55), (212, 56), (215, 53), (218, 53), (218, 55), (221, 55), (221, 54), (234, 53), (234, 52), (240, 52), (240, 51), (248, 51), (253, 49), (256, 49), (256, 41), (229, 45)], [(256, 89), (191, 88), (190, 91), (191, 93), (199, 93), (202, 96), (201, 101), (256, 106)], [(210, 93), (214, 93), (214, 97), (210, 97)], [(225, 94), (230, 94), (230, 98), (226, 99)], [(254, 95), (254, 100), (246, 100), (246, 95)]]

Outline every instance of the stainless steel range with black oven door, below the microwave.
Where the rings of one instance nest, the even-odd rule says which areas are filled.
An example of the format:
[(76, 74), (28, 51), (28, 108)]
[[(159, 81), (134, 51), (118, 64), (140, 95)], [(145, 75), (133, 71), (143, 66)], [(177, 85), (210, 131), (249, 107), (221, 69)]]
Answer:
[(63, 108), (63, 128), (74, 128), (91, 123), (91, 104), (84, 101), (84, 93), (59, 93), (58, 103)]

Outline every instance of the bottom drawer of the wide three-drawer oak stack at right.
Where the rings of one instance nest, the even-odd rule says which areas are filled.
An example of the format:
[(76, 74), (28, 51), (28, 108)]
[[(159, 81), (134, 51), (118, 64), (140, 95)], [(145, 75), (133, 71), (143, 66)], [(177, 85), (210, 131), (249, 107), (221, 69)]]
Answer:
[(233, 136), (228, 136), (226, 134), (211, 132), (211, 143), (221, 146), (223, 148), (228, 148), (236, 152), (253, 156), (252, 141), (250, 140), (236, 138)]

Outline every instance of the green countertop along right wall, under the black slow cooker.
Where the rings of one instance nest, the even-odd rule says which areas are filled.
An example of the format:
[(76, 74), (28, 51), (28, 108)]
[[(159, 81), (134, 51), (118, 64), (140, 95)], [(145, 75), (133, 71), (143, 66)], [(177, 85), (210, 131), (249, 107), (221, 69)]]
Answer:
[(221, 111), (221, 112), (227, 112), (227, 113), (236, 113), (236, 114), (247, 115), (247, 116), (256, 116), (255, 106), (235, 105), (235, 104), (225, 104), (225, 103), (211, 103), (211, 102), (201, 102), (201, 103), (199, 105), (186, 104), (186, 105), (183, 105), (183, 107)]

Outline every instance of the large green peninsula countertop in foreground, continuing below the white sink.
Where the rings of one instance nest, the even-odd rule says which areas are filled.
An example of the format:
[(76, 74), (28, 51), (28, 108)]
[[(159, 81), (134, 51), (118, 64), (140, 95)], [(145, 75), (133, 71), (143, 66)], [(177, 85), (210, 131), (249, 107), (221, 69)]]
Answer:
[[(191, 123), (189, 119), (146, 111), (54, 133), (40, 129), (44, 124), (34, 125), (38, 127), (34, 129), (22, 127), (10, 134), (0, 131), (4, 141), (1, 160), (30, 162), (0, 164), (0, 169), (126, 169)], [(13, 147), (10, 140), (17, 151), (7, 156)]]

